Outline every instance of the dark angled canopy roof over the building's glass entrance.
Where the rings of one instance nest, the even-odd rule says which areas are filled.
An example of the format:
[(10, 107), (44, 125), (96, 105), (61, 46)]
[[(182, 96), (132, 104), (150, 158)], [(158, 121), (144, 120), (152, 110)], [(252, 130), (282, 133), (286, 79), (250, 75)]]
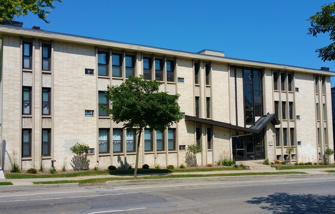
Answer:
[(216, 121), (216, 120), (203, 119), (203, 118), (193, 117), (193, 116), (190, 116), (190, 115), (185, 115), (185, 120), (200, 122), (200, 123), (206, 123), (206, 124), (210, 124), (210, 125), (217, 126), (217, 127), (223, 127), (223, 128), (233, 129), (233, 130), (243, 131), (243, 132), (251, 132), (251, 133), (256, 133), (256, 134), (259, 133), (260, 131), (262, 131), (264, 129), (264, 127), (266, 127), (266, 125), (270, 121), (273, 125), (278, 125), (278, 124), (281, 123), (277, 119), (275, 114), (269, 114), (269, 113), (267, 115), (263, 116), (263, 117), (260, 117), (255, 122), (255, 124), (253, 126), (251, 126), (250, 128), (239, 127), (239, 126), (232, 125), (231, 123), (227, 123), (227, 122), (220, 122), (220, 121)]

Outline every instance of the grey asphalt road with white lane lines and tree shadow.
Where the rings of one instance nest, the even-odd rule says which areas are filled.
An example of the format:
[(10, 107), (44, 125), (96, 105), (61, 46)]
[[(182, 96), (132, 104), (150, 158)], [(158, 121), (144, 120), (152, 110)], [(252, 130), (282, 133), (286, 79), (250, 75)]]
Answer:
[(0, 213), (335, 213), (335, 175), (1, 188)]

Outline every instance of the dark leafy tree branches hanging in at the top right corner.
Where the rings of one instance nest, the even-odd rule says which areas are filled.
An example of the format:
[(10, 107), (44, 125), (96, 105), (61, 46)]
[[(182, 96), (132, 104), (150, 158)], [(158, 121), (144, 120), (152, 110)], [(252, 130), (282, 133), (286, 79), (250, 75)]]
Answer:
[(311, 27), (308, 28), (309, 35), (317, 37), (319, 33), (329, 32), (329, 39), (333, 41), (330, 45), (322, 48), (318, 48), (315, 52), (318, 52), (318, 57), (325, 61), (335, 60), (335, 3), (329, 5), (323, 5), (321, 11), (310, 16), (307, 21), (310, 21)]

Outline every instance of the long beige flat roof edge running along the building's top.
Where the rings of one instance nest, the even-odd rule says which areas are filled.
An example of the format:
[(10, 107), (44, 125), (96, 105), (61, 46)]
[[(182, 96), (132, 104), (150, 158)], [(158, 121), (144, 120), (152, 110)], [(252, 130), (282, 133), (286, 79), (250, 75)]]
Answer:
[(54, 41), (64, 41), (70, 43), (85, 44), (90, 46), (99, 46), (101, 48), (115, 48), (115, 49), (125, 49), (128, 51), (139, 51), (143, 53), (156, 53), (157, 55), (165, 55), (170, 57), (179, 57), (195, 60), (208, 60), (213, 62), (226, 63), (237, 66), (249, 66), (249, 67), (260, 67), (260, 68), (271, 68), (276, 70), (289, 70), (302, 73), (310, 74), (321, 74), (326, 76), (335, 76), (334, 72), (306, 68), (292, 65), (268, 63), (268, 62), (259, 62), (252, 60), (242, 60), (229, 57), (218, 57), (212, 55), (204, 55), (201, 53), (180, 51), (166, 48), (151, 47), (145, 45), (137, 45), (131, 43), (116, 42), (111, 40), (97, 39), (91, 37), (84, 37), (80, 35), (72, 35), (66, 33), (45, 31), (45, 30), (35, 30), (30, 28), (19, 28), (0, 25), (0, 35), (9, 34), (9, 35), (20, 35), (22, 37), (32, 37), (32, 38), (41, 38), (45, 40), (54, 40)]

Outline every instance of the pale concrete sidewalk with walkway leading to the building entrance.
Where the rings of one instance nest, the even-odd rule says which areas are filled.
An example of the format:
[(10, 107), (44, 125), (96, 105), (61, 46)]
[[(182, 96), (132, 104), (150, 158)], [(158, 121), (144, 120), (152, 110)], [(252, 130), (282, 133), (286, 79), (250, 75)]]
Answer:
[[(295, 171), (295, 172), (304, 172), (309, 175), (325, 175), (325, 174), (333, 174), (335, 173), (327, 173), (324, 172), (326, 170), (335, 170), (334, 168), (319, 168), (319, 169), (292, 169), (292, 170), (276, 170), (273, 167), (259, 164), (257, 162), (238, 162), (237, 164), (243, 163), (246, 166), (249, 166), (250, 170), (243, 170), (243, 171), (235, 171), (235, 170), (225, 170), (225, 171), (210, 171), (210, 172), (178, 172), (178, 173), (169, 173), (170, 174), (229, 174), (229, 173), (248, 173), (248, 172), (288, 172), (288, 171)], [(2, 171), (1, 171), (2, 172)], [(150, 175), (161, 175), (161, 174), (139, 174), (138, 176), (150, 176)], [(80, 177), (55, 177), (55, 178), (47, 178), (47, 179), (2, 179), (0, 177), (0, 182), (11, 182), (14, 186), (31, 186), (33, 185), (32, 182), (39, 182), (39, 181), (78, 181), (78, 180), (87, 180), (87, 179), (99, 179), (99, 178), (108, 178), (108, 177), (133, 177), (133, 175), (94, 175), (94, 176), (80, 176)], [(138, 181), (145, 181), (145, 180), (138, 180)], [(122, 182), (122, 181), (119, 181)], [(135, 182), (135, 181), (133, 181)], [(142, 183), (141, 182), (141, 183)], [(65, 184), (68, 185), (68, 184)], [(75, 184), (78, 185), (78, 184)], [(36, 185), (34, 185), (36, 186)], [(62, 185), (54, 185), (54, 186), (64, 186)], [(2, 188), (6, 188), (10, 186), (2, 186)], [(13, 186), (12, 186), (13, 187)]]

